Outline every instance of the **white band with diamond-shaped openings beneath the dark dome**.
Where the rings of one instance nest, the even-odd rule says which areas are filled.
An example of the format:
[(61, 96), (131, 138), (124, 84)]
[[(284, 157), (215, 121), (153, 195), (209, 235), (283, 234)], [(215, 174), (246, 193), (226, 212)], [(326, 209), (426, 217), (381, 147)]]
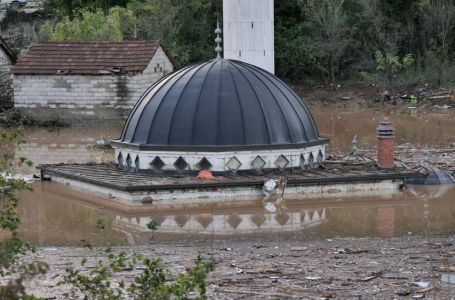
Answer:
[(135, 150), (114, 144), (116, 164), (120, 168), (151, 174), (200, 170), (231, 174), (247, 170), (312, 170), (324, 163), (325, 147), (318, 144), (296, 149), (185, 152)]

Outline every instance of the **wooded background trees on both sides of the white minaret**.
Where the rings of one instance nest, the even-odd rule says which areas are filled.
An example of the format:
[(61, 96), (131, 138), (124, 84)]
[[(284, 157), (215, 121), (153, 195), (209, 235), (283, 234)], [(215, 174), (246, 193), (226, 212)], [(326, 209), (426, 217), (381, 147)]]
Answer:
[[(51, 40), (159, 39), (179, 66), (214, 56), (222, 0), (51, 0), (60, 16)], [(113, 8), (121, 6), (122, 8)], [(104, 16), (103, 16), (104, 13)], [(91, 24), (91, 25), (90, 25)], [(446, 84), (454, 63), (452, 0), (275, 1), (276, 69), (294, 82), (359, 80), (414, 72)], [(413, 58), (377, 68), (378, 56)], [(400, 62), (402, 64), (403, 61)]]

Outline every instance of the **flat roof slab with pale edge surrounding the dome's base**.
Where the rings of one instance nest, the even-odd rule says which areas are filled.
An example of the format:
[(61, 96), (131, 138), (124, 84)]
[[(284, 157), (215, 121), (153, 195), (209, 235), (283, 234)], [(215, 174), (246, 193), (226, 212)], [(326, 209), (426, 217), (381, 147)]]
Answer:
[(195, 177), (156, 177), (120, 171), (112, 165), (41, 166), (43, 176), (69, 188), (125, 204), (218, 202), (263, 197), (264, 182), (287, 177), (284, 196), (339, 197), (364, 193), (387, 195), (403, 187), (409, 171), (317, 170), (289, 174), (221, 176), (204, 181)]

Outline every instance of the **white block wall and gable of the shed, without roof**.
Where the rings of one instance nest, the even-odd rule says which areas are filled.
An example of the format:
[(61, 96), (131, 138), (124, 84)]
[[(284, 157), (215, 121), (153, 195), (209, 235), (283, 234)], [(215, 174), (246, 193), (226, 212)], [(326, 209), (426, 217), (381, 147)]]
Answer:
[(160, 47), (137, 75), (14, 75), (14, 106), (41, 120), (121, 124), (147, 88), (172, 70)]

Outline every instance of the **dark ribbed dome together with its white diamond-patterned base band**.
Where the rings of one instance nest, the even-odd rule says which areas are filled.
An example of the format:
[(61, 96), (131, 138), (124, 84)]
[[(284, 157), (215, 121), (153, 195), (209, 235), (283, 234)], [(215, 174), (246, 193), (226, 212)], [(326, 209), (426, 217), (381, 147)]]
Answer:
[(181, 173), (312, 169), (328, 142), (283, 81), (218, 57), (152, 85), (112, 145), (122, 169)]

